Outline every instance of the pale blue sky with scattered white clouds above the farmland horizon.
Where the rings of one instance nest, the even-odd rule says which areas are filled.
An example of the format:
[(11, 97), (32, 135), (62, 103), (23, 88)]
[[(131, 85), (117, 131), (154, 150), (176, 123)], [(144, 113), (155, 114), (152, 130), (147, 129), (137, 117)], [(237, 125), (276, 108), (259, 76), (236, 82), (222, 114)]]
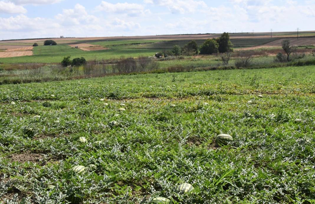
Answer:
[(315, 30), (315, 0), (0, 0), (0, 40)]

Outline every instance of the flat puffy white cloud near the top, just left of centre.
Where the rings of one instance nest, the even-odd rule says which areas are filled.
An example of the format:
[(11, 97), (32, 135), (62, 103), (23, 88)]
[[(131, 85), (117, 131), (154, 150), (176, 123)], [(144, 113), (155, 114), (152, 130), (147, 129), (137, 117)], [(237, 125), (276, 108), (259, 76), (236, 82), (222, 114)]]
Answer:
[(128, 14), (129, 16), (138, 16), (140, 14), (149, 13), (144, 6), (136, 3), (108, 3), (102, 1), (96, 8), (96, 11), (105, 11), (107, 13)]

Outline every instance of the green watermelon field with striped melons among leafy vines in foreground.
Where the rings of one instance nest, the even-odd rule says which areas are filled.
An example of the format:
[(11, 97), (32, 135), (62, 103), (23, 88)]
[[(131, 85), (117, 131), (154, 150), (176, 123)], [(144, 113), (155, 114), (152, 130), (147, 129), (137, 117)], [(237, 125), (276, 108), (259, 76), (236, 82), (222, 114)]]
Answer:
[(0, 203), (315, 203), (315, 66), (1, 85), (0, 106)]

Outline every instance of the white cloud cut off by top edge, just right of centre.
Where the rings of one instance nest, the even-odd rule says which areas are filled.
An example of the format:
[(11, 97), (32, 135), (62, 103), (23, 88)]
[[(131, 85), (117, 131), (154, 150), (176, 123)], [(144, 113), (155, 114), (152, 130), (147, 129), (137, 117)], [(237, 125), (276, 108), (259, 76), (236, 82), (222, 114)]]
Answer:
[(198, 8), (206, 8), (204, 1), (194, 0), (144, 0), (144, 3), (151, 3), (159, 6), (167, 7), (172, 13), (195, 12)]

